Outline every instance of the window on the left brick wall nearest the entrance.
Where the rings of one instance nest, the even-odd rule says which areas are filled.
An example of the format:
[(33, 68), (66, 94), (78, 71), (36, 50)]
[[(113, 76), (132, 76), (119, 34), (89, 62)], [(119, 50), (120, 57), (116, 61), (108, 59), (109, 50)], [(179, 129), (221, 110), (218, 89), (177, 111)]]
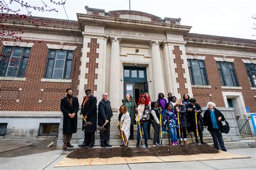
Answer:
[(72, 59), (72, 51), (49, 50), (44, 78), (70, 79)]

